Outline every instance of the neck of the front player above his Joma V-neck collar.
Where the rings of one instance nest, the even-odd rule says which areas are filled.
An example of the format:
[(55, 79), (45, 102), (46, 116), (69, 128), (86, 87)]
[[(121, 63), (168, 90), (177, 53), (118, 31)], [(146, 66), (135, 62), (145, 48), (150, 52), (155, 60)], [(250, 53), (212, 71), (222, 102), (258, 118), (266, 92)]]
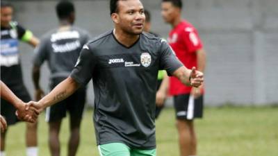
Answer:
[(113, 34), (117, 41), (126, 47), (132, 46), (139, 38), (139, 35), (131, 35), (122, 31), (120, 28), (115, 28)]

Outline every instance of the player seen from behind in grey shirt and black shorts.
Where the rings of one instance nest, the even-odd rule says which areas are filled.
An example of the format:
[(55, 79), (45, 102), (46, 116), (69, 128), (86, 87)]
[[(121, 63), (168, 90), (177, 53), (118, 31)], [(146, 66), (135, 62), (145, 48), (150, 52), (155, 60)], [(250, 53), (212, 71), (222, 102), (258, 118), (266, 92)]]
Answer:
[[(51, 71), (50, 88), (53, 89), (70, 76), (83, 45), (90, 38), (87, 31), (73, 26), (75, 14), (72, 2), (58, 2), (56, 13), (60, 26), (46, 33), (35, 49), (33, 84), (35, 86), (36, 100), (40, 100), (43, 94), (39, 80), (40, 67), (44, 60), (47, 60), (49, 64)], [(67, 155), (76, 155), (80, 140), (79, 131), (84, 105), (85, 87), (80, 87), (72, 96), (64, 101), (47, 107), (46, 121), (49, 123), (49, 148), (52, 156), (60, 155), (60, 125), (67, 112), (70, 114), (70, 139)]]

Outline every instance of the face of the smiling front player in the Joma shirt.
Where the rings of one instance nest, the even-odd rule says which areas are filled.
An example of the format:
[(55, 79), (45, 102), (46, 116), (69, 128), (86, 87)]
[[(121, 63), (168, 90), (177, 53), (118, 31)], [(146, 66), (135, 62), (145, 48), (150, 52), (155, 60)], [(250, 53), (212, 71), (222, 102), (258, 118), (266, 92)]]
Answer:
[(140, 0), (118, 1), (116, 24), (125, 33), (139, 35), (142, 33), (145, 14)]

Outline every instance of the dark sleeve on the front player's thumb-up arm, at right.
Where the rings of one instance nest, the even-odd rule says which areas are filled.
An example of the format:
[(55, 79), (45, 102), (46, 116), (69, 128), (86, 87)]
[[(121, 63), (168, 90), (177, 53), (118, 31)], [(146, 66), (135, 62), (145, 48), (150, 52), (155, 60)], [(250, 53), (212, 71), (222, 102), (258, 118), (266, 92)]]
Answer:
[(179, 61), (177, 56), (172, 51), (171, 47), (165, 40), (161, 40), (161, 59), (159, 63), (159, 69), (164, 69), (167, 71), (169, 76), (172, 76), (172, 73), (182, 67), (183, 64)]

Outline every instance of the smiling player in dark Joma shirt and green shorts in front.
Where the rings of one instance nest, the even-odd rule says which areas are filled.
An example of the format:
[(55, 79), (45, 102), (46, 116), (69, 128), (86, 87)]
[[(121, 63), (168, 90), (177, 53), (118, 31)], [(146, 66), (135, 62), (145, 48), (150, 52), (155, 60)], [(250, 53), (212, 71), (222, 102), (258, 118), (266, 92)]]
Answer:
[(115, 28), (85, 44), (70, 76), (28, 105), (42, 111), (92, 79), (100, 155), (154, 156), (158, 70), (195, 87), (202, 84), (203, 74), (184, 67), (167, 42), (142, 33), (145, 14), (140, 0), (111, 0), (110, 6)]

